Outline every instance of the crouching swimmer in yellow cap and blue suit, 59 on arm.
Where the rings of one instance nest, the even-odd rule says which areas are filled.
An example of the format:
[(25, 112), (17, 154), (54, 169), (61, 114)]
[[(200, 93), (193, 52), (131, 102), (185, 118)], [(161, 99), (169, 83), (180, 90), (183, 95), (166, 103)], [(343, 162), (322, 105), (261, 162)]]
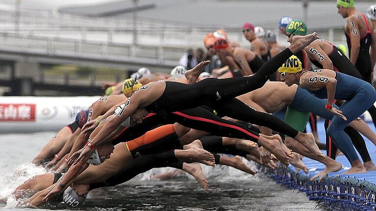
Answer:
[[(296, 57), (290, 57), (279, 69), (281, 80), (288, 86), (299, 84), (318, 98), (328, 98), (325, 107), (335, 115), (328, 127), (328, 134), (352, 164), (352, 168), (345, 173), (365, 172), (350, 137), (343, 130), (375, 103), (375, 89), (360, 79), (329, 69), (306, 71), (299, 67), (299, 62)], [(333, 107), (334, 98), (346, 102), (336, 109)]]

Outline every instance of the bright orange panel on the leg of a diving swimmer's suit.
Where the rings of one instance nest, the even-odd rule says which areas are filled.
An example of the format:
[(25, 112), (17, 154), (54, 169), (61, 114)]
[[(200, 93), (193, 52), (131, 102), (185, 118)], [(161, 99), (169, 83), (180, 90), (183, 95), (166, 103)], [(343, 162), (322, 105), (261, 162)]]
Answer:
[(132, 151), (135, 148), (139, 148), (143, 145), (147, 145), (150, 143), (153, 143), (167, 135), (170, 135), (175, 132), (175, 128), (173, 125), (164, 125), (161, 127), (157, 127), (155, 129), (152, 129), (150, 131), (147, 131), (142, 136), (133, 139), (132, 141), (126, 142), (128, 148), (130, 151)]

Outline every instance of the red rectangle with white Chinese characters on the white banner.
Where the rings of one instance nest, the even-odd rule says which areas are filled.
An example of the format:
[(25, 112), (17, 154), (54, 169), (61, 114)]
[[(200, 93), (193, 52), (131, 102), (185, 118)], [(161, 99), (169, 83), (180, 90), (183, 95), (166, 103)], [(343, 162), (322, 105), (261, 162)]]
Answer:
[(35, 121), (35, 104), (0, 104), (0, 121)]

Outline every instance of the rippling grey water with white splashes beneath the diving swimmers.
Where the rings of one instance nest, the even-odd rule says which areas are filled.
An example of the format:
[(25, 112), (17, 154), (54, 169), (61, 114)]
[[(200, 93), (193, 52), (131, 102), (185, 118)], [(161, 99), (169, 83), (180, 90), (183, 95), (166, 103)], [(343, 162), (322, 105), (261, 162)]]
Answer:
[[(0, 198), (6, 197), (24, 180), (45, 170), (25, 164), (54, 136), (53, 132), (0, 135)], [(252, 164), (250, 164), (252, 165)], [(24, 171), (24, 174), (14, 172)], [(170, 180), (148, 180), (171, 169), (153, 169), (116, 187), (93, 190), (79, 210), (86, 211), (324, 211), (308, 201), (304, 193), (293, 192), (268, 178), (247, 175), (227, 167), (204, 167), (210, 190), (199, 187), (193, 177), (180, 175)], [(67, 210), (62, 205), (43, 209), (20, 209), (8, 199), (2, 211)], [(74, 209), (78, 210), (78, 209)]]

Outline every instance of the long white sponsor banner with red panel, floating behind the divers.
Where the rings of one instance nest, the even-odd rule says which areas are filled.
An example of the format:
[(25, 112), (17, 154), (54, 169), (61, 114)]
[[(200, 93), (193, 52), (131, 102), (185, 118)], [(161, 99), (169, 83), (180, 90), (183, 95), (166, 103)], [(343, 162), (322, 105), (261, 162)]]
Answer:
[(0, 132), (58, 131), (99, 98), (0, 97)]

